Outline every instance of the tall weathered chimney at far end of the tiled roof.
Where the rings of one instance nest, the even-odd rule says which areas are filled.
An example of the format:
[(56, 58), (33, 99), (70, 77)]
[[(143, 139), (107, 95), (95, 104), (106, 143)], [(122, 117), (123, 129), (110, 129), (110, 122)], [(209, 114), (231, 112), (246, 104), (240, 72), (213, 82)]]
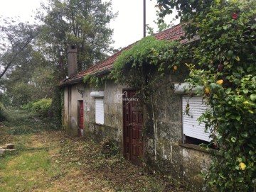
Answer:
[(78, 48), (76, 45), (68, 45), (68, 77), (78, 72)]

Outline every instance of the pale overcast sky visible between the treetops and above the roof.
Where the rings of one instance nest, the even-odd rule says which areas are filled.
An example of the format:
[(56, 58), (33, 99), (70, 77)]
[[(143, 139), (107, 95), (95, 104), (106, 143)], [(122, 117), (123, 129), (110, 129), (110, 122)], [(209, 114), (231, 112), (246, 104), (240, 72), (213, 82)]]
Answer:
[[(33, 21), (35, 11), (43, 0), (0, 0), (1, 16), (20, 16), (21, 21)], [(103, 0), (107, 1), (107, 0)], [(146, 23), (154, 26), (156, 0), (146, 0)], [(119, 12), (110, 23), (114, 29), (114, 47), (125, 47), (143, 38), (143, 0), (112, 0), (113, 12)]]

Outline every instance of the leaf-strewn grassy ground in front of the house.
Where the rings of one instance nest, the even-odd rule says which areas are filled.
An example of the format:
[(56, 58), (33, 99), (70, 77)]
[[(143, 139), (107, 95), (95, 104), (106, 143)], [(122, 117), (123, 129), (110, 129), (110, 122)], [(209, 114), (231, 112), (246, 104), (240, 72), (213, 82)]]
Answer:
[[(20, 113), (0, 123), (0, 145), (17, 152), (0, 157), (0, 191), (187, 191), (169, 177), (148, 174), (97, 144), (72, 137)], [(112, 155), (108, 155), (112, 154)]]

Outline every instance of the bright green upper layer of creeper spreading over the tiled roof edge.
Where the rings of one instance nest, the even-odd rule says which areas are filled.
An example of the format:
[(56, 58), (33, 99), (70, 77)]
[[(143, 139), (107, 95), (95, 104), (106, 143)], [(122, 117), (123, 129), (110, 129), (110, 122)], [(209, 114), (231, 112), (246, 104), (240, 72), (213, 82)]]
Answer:
[(177, 41), (156, 40), (154, 36), (143, 38), (132, 45), (129, 50), (124, 50), (113, 64), (112, 79), (120, 83), (128, 83), (127, 77), (134, 71), (142, 75), (149, 75), (149, 69), (161, 72), (165, 68), (167, 60), (160, 57), (161, 53), (168, 52), (169, 57), (174, 53), (174, 47), (180, 45)]

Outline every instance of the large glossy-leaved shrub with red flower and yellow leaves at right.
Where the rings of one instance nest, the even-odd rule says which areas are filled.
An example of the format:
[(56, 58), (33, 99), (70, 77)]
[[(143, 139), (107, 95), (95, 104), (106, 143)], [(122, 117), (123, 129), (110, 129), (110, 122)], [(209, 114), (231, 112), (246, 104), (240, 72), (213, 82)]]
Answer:
[(183, 45), (172, 62), (191, 61), (187, 81), (204, 86), (211, 108), (201, 117), (218, 147), (208, 183), (218, 191), (255, 191), (256, 1), (158, 2), (161, 16), (175, 7), (186, 37), (197, 35), (198, 45)]

